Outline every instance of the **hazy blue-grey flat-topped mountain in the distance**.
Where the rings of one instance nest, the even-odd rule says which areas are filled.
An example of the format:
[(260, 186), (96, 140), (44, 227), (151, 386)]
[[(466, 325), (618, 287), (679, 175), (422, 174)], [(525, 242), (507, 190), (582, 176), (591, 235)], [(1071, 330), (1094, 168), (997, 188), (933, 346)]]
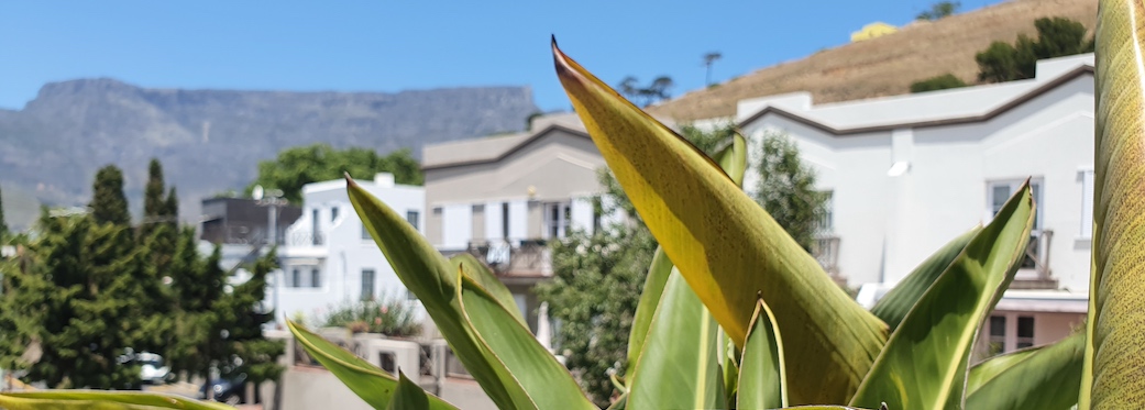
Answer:
[[(0, 182), (53, 205), (90, 197), (95, 171), (124, 169), (133, 210), (142, 207), (147, 164), (163, 161), (180, 214), (242, 189), (256, 164), (282, 149), (326, 142), (381, 153), (524, 128), (538, 111), (528, 87), (385, 93), (291, 93), (142, 88), (113, 79), (45, 85), (23, 110), (0, 110)], [(7, 194), (7, 191), (5, 192)]]

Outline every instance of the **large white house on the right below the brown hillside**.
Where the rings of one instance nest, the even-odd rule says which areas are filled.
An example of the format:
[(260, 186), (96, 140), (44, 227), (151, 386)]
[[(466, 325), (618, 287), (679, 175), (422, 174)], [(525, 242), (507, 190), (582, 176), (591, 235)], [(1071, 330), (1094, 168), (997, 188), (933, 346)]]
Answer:
[[(870, 284), (860, 294), (868, 303), (948, 241), (989, 222), (1028, 179), (1037, 204), (1029, 247), (981, 332), (984, 349), (1049, 342), (1083, 320), (1091, 54), (1041, 61), (1036, 78), (996, 85), (831, 104), (814, 104), (806, 93), (748, 100), (731, 120), (752, 144), (750, 155), (768, 134), (796, 142), (818, 188), (829, 192), (819, 241), (829, 260), (821, 262), (852, 286)], [(744, 186), (757, 181), (749, 171)]]

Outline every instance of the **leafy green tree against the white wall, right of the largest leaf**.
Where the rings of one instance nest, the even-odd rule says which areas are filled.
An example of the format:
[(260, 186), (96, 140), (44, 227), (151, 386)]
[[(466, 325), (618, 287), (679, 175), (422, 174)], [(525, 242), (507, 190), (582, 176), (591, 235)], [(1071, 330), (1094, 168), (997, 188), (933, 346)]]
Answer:
[(814, 171), (799, 159), (795, 142), (779, 132), (765, 132), (757, 169), (756, 202), (811, 251), (827, 203), (827, 194), (815, 190)]

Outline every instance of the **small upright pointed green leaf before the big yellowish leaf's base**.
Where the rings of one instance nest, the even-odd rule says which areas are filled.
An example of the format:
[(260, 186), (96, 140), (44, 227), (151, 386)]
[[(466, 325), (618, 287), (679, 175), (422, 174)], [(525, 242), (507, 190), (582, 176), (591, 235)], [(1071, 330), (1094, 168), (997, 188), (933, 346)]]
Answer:
[(748, 345), (740, 361), (737, 409), (774, 409), (787, 404), (783, 338), (775, 329), (775, 314), (763, 300), (752, 314)]

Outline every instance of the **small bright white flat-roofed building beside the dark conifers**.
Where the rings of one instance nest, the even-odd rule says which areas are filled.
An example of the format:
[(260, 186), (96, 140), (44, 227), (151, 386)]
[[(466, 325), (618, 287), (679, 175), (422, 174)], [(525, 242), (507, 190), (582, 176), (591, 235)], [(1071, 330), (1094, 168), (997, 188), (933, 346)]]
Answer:
[[(388, 173), (357, 183), (424, 231), (421, 187), (395, 184)], [(279, 323), (298, 314), (321, 320), (342, 303), (371, 298), (413, 301), (354, 211), (345, 180), (306, 184), (302, 203), (302, 216), (278, 249), (282, 269), (267, 292)]]

